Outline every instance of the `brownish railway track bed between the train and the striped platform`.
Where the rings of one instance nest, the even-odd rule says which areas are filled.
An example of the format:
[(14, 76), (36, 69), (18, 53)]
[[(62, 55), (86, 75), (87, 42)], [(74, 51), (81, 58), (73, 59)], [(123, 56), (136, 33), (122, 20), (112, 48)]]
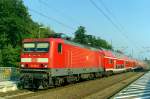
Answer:
[[(0, 94), (0, 99), (91, 99), (91, 97), (93, 96), (98, 97), (100, 93), (103, 94), (104, 99), (104, 97), (106, 97), (104, 96), (104, 92), (110, 91), (109, 88), (111, 88), (111, 86), (114, 86), (111, 88), (111, 90), (115, 89), (117, 87), (116, 84), (119, 83), (119, 86), (126, 86), (126, 84), (132, 82), (141, 75), (143, 75), (143, 73), (128, 72), (48, 90), (38, 90), (36, 92), (28, 90), (9, 92), (8, 94)], [(126, 80), (129, 81), (126, 82)], [(118, 90), (120, 89), (117, 89), (117, 92)], [(110, 92), (110, 94), (108, 94), (109, 96), (116, 92), (116, 90), (113, 92), (112, 91)]]

